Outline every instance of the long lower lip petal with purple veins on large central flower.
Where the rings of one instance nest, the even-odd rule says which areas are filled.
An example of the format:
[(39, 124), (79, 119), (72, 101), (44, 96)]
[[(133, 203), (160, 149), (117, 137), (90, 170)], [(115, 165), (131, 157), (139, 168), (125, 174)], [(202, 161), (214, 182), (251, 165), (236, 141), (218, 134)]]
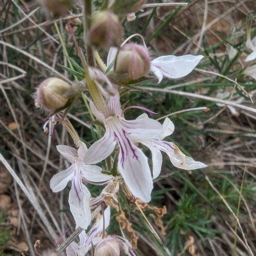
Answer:
[(118, 136), (120, 148), (118, 156), (118, 170), (121, 173), (131, 193), (145, 203), (151, 200), (153, 181), (148, 166), (148, 159), (140, 148), (137, 148), (127, 137)]

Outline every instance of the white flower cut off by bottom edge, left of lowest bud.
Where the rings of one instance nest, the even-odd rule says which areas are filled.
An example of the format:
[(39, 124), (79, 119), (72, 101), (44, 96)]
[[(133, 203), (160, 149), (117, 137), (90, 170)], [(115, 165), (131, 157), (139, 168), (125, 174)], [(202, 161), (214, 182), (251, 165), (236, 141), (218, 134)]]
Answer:
[[(103, 223), (104, 221), (104, 223)], [(80, 242), (79, 244), (72, 242), (66, 249), (67, 256), (84, 256), (90, 250), (92, 245), (98, 244), (102, 238), (97, 236), (103, 232), (103, 226), (105, 225), (105, 229), (109, 226), (110, 222), (110, 207), (104, 211), (104, 220), (103, 217), (100, 218), (99, 222), (96, 223), (88, 232), (85, 233), (83, 230), (79, 234)], [(104, 225), (103, 225), (104, 224)]]

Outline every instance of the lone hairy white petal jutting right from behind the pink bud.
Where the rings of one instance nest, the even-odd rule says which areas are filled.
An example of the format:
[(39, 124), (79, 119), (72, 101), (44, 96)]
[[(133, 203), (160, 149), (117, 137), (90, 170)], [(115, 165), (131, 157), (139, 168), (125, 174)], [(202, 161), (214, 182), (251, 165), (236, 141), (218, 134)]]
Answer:
[(159, 72), (167, 78), (176, 79), (188, 75), (202, 58), (203, 55), (160, 56), (151, 61), (151, 70), (158, 79)]

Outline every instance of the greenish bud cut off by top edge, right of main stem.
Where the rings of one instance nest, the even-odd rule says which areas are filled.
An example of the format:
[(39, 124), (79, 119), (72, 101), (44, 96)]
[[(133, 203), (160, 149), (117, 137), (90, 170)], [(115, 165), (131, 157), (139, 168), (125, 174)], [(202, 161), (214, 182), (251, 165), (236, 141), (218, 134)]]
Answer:
[(128, 14), (138, 11), (146, 0), (110, 0), (108, 6), (116, 14)]

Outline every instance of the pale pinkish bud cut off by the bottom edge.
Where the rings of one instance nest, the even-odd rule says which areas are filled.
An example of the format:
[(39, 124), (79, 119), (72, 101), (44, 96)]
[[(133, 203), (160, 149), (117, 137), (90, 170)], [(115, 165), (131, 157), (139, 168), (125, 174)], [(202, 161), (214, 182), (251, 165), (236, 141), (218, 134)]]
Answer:
[(108, 236), (97, 244), (94, 256), (119, 256), (120, 246), (117, 239)]

